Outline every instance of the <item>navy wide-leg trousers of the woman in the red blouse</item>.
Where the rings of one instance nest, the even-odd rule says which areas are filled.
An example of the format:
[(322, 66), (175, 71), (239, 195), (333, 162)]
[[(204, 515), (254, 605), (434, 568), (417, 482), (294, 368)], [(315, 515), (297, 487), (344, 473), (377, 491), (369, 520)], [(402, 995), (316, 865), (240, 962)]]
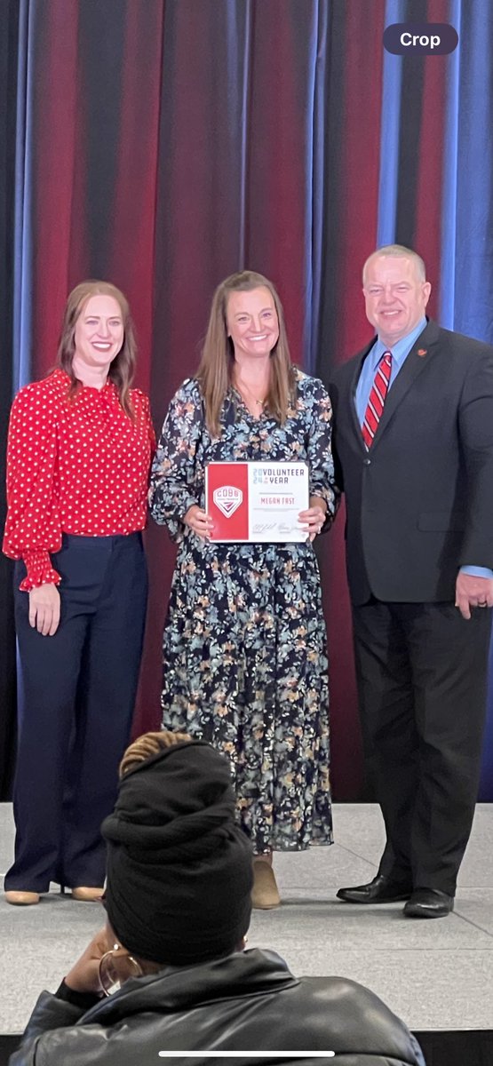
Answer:
[(52, 555), (62, 577), (53, 636), (29, 624), (16, 565), (20, 660), (14, 784), (15, 861), (5, 889), (46, 892), (105, 882), (99, 827), (113, 808), (128, 743), (147, 601), (140, 533), (64, 535)]

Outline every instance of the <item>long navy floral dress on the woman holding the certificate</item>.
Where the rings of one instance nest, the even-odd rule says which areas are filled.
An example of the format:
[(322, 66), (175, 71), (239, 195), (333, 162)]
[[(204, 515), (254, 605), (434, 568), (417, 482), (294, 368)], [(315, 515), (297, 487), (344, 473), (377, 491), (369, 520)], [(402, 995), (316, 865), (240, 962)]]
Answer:
[(332, 843), (329, 690), (318, 563), (312, 544), (214, 544), (181, 521), (205, 505), (205, 465), (309, 465), (311, 496), (335, 512), (331, 406), (321, 382), (296, 371), (284, 425), (250, 414), (233, 389), (211, 438), (196, 381), (173, 398), (150, 507), (178, 547), (163, 635), (163, 728), (227, 754), (239, 822), (256, 854)]

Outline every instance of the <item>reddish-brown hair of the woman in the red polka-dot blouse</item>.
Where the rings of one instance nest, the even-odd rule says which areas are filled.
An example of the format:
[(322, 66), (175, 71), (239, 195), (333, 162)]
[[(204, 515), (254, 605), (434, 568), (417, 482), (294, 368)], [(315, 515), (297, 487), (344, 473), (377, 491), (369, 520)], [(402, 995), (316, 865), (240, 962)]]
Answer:
[(59, 350), (57, 353), (58, 366), (65, 370), (70, 378), (68, 395), (75, 395), (80, 387), (80, 383), (73, 371), (73, 359), (76, 351), (75, 334), (76, 324), (82, 313), (85, 304), (91, 296), (113, 296), (116, 301), (124, 325), (124, 342), (117, 356), (110, 364), (108, 377), (113, 382), (118, 393), (120, 403), (130, 418), (133, 417), (133, 408), (130, 400), (130, 386), (136, 367), (137, 344), (133, 332), (133, 323), (130, 316), (128, 301), (123, 292), (111, 285), (111, 281), (81, 281), (71, 290), (65, 304), (65, 311), (62, 322), (62, 333), (60, 337)]

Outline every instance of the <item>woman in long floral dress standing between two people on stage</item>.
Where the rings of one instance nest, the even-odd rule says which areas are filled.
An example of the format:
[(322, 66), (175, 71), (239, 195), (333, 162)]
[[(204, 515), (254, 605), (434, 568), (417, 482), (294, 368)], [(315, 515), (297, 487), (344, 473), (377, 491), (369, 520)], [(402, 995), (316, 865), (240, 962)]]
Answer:
[[(305, 461), (306, 540), (219, 544), (205, 465)], [(179, 545), (163, 636), (163, 727), (230, 759), (252, 840), (255, 906), (280, 902), (273, 851), (332, 843), (325, 627), (313, 540), (336, 490), (331, 405), (295, 368), (272, 284), (251, 271), (216, 291), (198, 371), (173, 398), (150, 507)]]

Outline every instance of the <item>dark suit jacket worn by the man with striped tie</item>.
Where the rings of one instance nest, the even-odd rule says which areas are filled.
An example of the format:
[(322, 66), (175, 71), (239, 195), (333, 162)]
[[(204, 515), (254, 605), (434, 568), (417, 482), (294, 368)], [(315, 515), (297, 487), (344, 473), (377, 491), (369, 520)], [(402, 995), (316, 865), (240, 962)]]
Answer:
[(330, 385), (351, 599), (452, 600), (460, 566), (493, 569), (493, 348), (428, 322), (367, 452), (354, 394), (372, 343)]

